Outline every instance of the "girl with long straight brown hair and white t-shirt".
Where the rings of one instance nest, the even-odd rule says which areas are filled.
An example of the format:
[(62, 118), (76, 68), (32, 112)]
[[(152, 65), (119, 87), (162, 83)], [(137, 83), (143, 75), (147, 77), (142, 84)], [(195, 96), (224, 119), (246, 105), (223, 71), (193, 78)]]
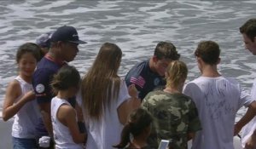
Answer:
[(135, 85), (128, 90), (118, 76), (121, 58), (116, 44), (104, 43), (82, 79), (81, 99), (77, 96), (77, 100), (88, 133), (86, 148), (113, 148), (119, 143), (128, 115), (140, 106)]

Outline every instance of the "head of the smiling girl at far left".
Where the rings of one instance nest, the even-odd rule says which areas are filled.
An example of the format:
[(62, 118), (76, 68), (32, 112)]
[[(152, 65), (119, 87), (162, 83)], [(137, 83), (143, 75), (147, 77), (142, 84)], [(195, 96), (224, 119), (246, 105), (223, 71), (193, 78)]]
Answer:
[(21, 75), (32, 76), (40, 60), (40, 48), (35, 43), (22, 44), (16, 53), (16, 62)]

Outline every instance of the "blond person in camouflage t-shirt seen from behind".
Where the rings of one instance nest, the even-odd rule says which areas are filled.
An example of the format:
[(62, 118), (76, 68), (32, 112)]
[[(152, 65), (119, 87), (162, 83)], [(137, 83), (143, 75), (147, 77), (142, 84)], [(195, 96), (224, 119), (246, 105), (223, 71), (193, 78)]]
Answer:
[(187, 74), (188, 68), (182, 61), (172, 61), (166, 71), (166, 88), (149, 92), (143, 100), (143, 108), (156, 123), (148, 137), (152, 148), (157, 148), (160, 140), (169, 140), (170, 149), (187, 148), (188, 140), (201, 129), (195, 103), (181, 93)]

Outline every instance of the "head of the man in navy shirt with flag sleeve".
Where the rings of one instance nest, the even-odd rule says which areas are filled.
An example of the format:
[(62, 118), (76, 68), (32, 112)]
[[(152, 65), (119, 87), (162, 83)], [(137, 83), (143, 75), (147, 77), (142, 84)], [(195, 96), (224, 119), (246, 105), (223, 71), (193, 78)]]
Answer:
[(151, 69), (160, 76), (165, 76), (166, 67), (172, 60), (178, 60), (179, 57), (180, 54), (177, 53), (176, 47), (172, 43), (160, 42), (154, 49)]

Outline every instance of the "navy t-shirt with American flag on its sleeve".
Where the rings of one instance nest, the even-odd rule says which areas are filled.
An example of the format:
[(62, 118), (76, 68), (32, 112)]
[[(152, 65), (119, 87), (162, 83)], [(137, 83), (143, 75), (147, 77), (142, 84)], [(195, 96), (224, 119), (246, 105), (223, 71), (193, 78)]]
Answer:
[(138, 90), (138, 97), (143, 98), (157, 87), (166, 85), (166, 81), (159, 74), (152, 72), (149, 67), (149, 60), (144, 60), (133, 66), (125, 76), (125, 83), (127, 86), (134, 83)]

